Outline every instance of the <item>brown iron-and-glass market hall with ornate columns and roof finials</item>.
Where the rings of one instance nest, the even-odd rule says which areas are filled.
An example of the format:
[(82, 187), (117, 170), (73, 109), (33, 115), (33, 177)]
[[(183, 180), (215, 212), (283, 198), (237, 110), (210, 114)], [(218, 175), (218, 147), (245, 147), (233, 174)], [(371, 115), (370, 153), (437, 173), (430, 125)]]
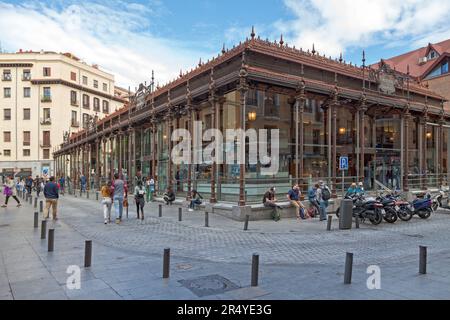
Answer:
[[(55, 152), (57, 171), (77, 182), (77, 172), (94, 167), (99, 185), (115, 172), (126, 172), (133, 183), (130, 177), (142, 170), (156, 179), (159, 193), (170, 186), (189, 199), (195, 188), (211, 203), (239, 206), (261, 202), (269, 186), (284, 194), (293, 183), (306, 191), (318, 180), (326, 181), (334, 196), (354, 181), (366, 189), (446, 184), (445, 99), (406, 74), (387, 65), (375, 70), (364, 60), (357, 67), (252, 32), (161, 88), (141, 86), (124, 109), (73, 134)], [(195, 130), (195, 121), (203, 123), (203, 132)], [(171, 137), (178, 128), (188, 130), (192, 140), (210, 128), (279, 129), (279, 170), (266, 176), (267, 164), (260, 162), (217, 163), (218, 153), (201, 164), (175, 164), (177, 141)], [(224, 143), (222, 151), (243, 144), (248, 160), (247, 139)], [(349, 159), (345, 172), (339, 170), (341, 156)]]

